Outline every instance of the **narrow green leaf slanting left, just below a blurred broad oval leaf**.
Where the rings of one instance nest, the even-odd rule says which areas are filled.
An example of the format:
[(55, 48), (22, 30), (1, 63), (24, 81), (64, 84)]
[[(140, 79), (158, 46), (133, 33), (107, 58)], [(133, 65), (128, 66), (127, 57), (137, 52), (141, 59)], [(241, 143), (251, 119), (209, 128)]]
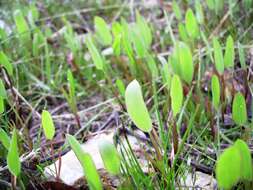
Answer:
[(91, 54), (91, 58), (98, 70), (103, 70), (104, 68), (104, 61), (103, 58), (100, 56), (96, 46), (94, 45), (91, 36), (87, 36), (86, 45), (89, 49)]

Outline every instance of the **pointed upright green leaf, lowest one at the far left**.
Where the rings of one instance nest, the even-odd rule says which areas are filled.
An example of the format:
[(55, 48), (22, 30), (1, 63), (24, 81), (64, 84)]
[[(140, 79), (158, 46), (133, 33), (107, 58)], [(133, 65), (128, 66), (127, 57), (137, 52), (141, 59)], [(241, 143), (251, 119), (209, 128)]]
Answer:
[(9, 146), (9, 151), (7, 155), (7, 165), (14, 176), (18, 176), (21, 172), (21, 164), (19, 160), (19, 153), (18, 153), (18, 140), (17, 140), (17, 131), (14, 129), (11, 143)]

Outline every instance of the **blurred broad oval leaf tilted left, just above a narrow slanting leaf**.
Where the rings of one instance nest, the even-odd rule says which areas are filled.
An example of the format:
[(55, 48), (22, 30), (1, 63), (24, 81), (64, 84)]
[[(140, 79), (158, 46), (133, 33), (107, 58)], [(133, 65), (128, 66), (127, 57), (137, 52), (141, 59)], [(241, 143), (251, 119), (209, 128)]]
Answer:
[(112, 35), (108, 25), (102, 17), (95, 16), (94, 19), (95, 30), (98, 38), (101, 40), (103, 45), (111, 45)]

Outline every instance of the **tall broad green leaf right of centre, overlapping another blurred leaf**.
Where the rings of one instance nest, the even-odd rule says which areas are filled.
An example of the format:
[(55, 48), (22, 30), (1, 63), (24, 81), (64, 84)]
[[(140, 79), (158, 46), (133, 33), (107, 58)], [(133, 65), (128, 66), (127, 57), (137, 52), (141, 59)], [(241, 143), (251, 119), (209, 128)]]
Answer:
[(194, 72), (192, 54), (190, 48), (183, 42), (179, 43), (179, 61), (181, 76), (184, 81), (190, 84), (192, 82)]

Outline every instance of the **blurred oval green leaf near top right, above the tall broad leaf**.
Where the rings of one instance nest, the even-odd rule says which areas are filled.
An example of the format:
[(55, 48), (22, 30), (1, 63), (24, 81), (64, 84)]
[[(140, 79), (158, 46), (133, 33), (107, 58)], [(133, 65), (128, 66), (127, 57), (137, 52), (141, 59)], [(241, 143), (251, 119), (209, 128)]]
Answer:
[(191, 38), (197, 38), (199, 36), (199, 26), (191, 9), (188, 9), (185, 14), (185, 26), (186, 31)]

